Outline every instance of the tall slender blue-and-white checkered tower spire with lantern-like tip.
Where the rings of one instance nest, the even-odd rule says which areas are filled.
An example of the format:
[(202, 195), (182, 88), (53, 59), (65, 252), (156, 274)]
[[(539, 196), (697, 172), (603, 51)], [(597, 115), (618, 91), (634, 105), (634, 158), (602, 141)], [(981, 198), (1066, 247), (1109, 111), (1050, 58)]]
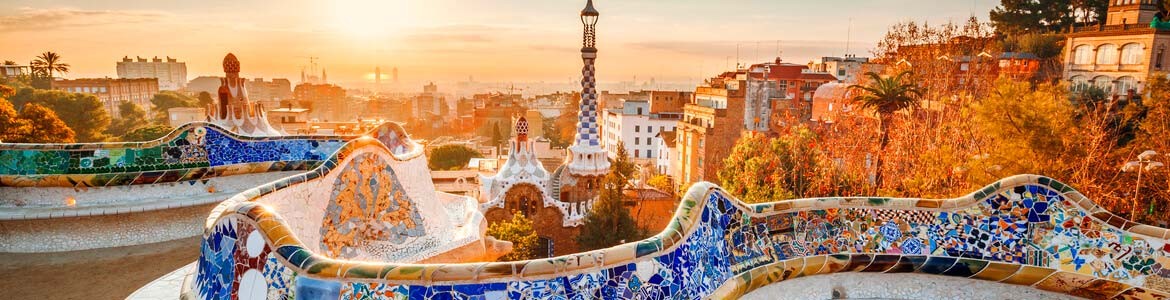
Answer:
[(601, 148), (598, 130), (597, 80), (593, 62), (597, 60), (597, 19), (600, 14), (593, 8), (593, 0), (581, 9), (581, 25), (585, 35), (581, 42), (581, 101), (577, 114), (577, 138), (569, 148), (569, 172), (572, 175), (600, 176), (610, 170), (610, 161)]

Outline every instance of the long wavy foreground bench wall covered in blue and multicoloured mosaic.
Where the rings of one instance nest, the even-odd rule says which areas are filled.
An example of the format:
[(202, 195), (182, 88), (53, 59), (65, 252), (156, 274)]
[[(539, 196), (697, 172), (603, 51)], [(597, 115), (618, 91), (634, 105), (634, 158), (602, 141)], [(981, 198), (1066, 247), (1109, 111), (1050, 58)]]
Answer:
[[(214, 216), (200, 259), (201, 284), (191, 291), (200, 299), (238, 293), (722, 299), (838, 272), (945, 275), (1089, 299), (1170, 295), (1170, 231), (1129, 223), (1041, 176), (1010, 177), (944, 200), (819, 198), (759, 205), (745, 205), (713, 184), (696, 184), (658, 236), (515, 262), (338, 260), (302, 244), (264, 205), (239, 203)], [(256, 271), (248, 275), (240, 266)]]

